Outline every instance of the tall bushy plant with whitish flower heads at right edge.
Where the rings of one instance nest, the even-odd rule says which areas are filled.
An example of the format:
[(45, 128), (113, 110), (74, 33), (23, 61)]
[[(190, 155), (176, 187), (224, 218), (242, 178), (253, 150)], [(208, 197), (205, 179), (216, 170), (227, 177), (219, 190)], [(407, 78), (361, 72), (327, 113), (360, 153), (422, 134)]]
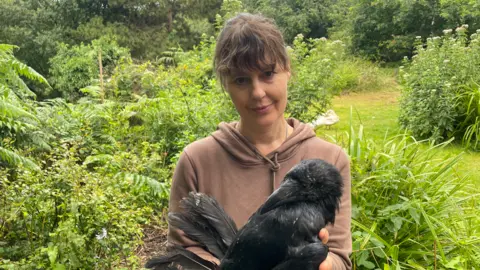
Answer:
[[(428, 38), (401, 68), (400, 125), (417, 138), (463, 138), (480, 147), (480, 30), (468, 25)], [(420, 40), (420, 37), (417, 37)]]

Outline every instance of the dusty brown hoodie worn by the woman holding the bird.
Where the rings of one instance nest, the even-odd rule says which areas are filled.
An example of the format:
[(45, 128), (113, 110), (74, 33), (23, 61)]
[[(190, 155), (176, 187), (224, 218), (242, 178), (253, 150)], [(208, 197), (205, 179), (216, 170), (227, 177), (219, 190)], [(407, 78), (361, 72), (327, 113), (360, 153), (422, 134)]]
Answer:
[[(333, 269), (351, 269), (349, 159), (339, 146), (317, 138), (311, 127), (296, 119), (287, 122), (293, 133), (267, 156), (237, 131), (237, 122), (221, 123), (211, 136), (188, 145), (175, 168), (169, 211), (179, 211), (179, 201), (190, 191), (202, 192), (213, 196), (241, 228), (294, 165), (304, 159), (320, 158), (334, 164), (344, 179), (335, 225), (327, 226), (328, 246)], [(180, 230), (169, 228), (168, 241), (199, 255), (209, 255)]]

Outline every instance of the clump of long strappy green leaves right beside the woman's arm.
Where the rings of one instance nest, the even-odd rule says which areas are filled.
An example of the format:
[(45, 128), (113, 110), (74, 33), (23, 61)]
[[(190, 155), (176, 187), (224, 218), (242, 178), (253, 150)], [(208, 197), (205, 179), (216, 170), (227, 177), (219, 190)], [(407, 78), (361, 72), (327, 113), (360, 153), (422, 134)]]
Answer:
[[(352, 158), (355, 269), (479, 269), (478, 187), (408, 134), (375, 144), (363, 126), (342, 141)], [(339, 138), (332, 138), (336, 140)]]

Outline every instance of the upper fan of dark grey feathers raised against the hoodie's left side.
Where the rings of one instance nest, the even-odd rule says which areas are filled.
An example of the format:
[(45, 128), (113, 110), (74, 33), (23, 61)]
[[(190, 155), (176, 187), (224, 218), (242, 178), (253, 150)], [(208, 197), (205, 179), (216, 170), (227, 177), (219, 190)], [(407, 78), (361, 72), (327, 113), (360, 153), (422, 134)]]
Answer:
[(221, 260), (238, 231), (233, 220), (214, 198), (202, 193), (190, 192), (180, 207), (183, 211), (168, 215), (170, 225)]

